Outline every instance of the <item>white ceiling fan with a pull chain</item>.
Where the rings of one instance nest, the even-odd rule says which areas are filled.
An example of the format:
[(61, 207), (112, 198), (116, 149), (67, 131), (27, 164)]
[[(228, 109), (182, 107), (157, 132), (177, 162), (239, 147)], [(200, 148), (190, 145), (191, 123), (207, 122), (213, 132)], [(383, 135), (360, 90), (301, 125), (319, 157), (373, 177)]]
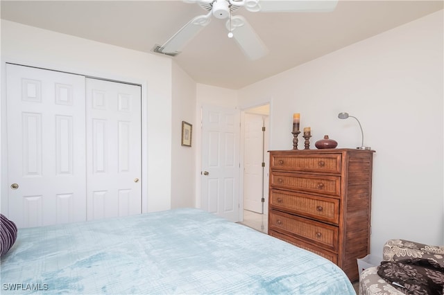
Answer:
[(330, 12), (336, 8), (338, 0), (183, 0), (186, 3), (198, 3), (207, 10), (207, 14), (198, 15), (183, 26), (162, 46), (156, 45), (154, 52), (176, 56), (180, 50), (200, 30), (210, 24), (212, 17), (228, 19), (225, 26), (228, 37), (233, 38), (250, 60), (257, 60), (268, 49), (255, 33), (248, 21), (241, 15), (232, 15), (239, 8), (250, 12)]

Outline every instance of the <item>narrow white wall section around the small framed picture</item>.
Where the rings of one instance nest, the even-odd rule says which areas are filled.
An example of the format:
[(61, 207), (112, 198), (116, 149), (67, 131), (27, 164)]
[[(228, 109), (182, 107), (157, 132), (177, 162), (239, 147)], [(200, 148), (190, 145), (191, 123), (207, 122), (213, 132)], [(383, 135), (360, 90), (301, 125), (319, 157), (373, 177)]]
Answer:
[[(196, 199), (196, 82), (173, 62), (171, 208), (194, 207)], [(182, 121), (192, 125), (191, 147), (182, 146)]]

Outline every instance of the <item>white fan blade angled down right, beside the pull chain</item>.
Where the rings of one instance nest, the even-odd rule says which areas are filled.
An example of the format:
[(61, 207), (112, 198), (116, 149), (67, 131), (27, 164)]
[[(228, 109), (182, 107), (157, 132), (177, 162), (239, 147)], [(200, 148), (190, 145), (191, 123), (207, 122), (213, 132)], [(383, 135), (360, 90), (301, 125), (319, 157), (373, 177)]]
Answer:
[[(230, 20), (227, 21), (227, 28), (230, 30)], [(268, 49), (244, 17), (236, 15), (231, 18), (230, 32), (250, 60), (258, 60), (268, 53)]]

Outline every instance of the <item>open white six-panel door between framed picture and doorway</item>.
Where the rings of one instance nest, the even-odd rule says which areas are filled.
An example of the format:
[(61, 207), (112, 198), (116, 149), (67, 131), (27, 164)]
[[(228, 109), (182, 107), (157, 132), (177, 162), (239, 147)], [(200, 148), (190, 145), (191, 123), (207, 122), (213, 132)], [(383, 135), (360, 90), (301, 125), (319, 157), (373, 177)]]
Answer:
[(202, 109), (201, 208), (239, 221), (240, 112), (216, 106)]

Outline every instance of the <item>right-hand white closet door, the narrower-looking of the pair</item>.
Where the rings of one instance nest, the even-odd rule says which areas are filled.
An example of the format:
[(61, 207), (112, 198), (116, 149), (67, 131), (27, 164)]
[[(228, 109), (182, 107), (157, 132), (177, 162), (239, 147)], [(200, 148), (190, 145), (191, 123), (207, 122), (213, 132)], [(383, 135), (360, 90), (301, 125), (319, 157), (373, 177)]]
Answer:
[(87, 78), (87, 220), (142, 213), (141, 87)]

